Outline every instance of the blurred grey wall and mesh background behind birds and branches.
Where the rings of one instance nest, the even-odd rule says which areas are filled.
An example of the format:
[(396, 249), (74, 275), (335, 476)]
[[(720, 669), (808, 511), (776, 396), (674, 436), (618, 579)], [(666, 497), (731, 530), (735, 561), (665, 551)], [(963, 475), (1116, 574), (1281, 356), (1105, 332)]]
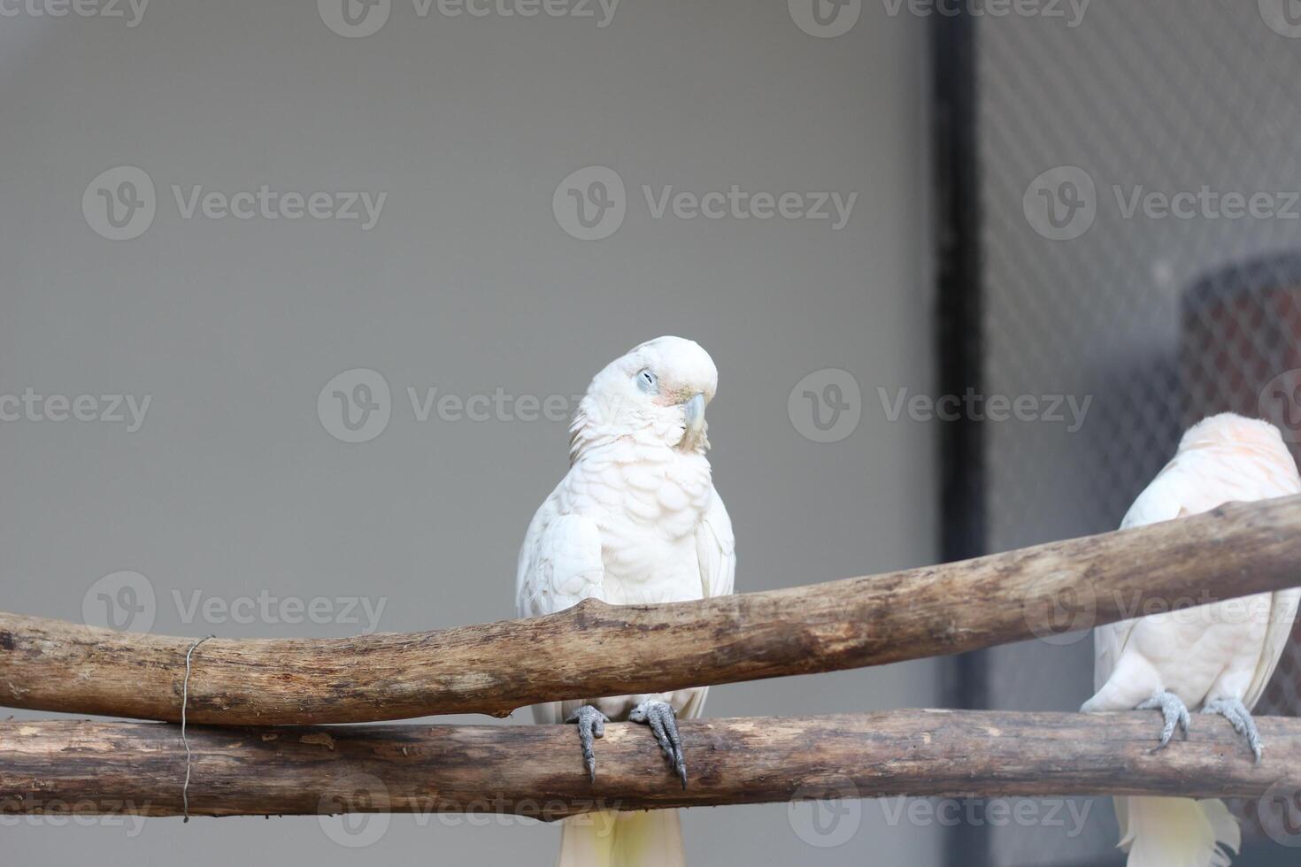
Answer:
[[(739, 590), (1111, 529), (1203, 415), (1301, 439), (1298, 75), (1294, 0), (0, 1), (0, 607), (509, 617), (574, 395), (666, 333), (719, 369)], [(1298, 662), (1258, 710), (1297, 711)], [(706, 712), (1075, 710), (1092, 666), (1067, 632)], [(1278, 806), (1237, 805), (1236, 863), (1296, 863)], [(1121, 862), (1106, 799), (926, 807), (688, 811), (688, 859)], [(0, 823), (13, 863), (104, 867), (559, 836)]]

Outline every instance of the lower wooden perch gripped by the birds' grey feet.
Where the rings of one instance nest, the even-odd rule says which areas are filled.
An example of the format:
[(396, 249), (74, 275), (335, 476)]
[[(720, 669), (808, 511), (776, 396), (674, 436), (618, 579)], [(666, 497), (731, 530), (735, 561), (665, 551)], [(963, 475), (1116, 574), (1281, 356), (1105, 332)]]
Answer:
[[(686, 790), (641, 725), (610, 724), (591, 783), (570, 725), (187, 729), (191, 815), (503, 812), (805, 798), (1301, 789), (1301, 720), (1261, 719), (1265, 762), (1220, 718), (1153, 751), (1158, 714), (879, 714), (682, 723)], [(0, 812), (180, 815), (180, 727), (0, 723)]]

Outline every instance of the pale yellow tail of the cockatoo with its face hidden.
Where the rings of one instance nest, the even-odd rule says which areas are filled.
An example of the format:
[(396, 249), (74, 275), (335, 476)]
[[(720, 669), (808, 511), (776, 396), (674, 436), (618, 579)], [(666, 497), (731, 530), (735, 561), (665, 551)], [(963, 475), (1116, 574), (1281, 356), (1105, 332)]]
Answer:
[(1214, 798), (1116, 798), (1116, 818), (1128, 867), (1229, 867), (1242, 846), (1237, 819)]

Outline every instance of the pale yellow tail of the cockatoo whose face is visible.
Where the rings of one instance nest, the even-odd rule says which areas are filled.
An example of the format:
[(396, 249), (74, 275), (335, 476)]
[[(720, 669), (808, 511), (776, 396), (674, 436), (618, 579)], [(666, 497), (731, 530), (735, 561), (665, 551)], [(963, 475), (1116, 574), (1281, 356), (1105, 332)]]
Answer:
[(558, 867), (686, 867), (677, 810), (588, 812), (566, 819)]

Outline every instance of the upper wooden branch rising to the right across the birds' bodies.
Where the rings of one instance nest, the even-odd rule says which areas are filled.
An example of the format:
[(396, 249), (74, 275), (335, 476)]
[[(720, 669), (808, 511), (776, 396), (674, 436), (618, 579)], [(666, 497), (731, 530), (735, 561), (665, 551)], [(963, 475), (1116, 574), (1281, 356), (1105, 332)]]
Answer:
[[(1301, 584), (1298, 563), (1301, 497), (1293, 497), (963, 563), (701, 602), (589, 599), (549, 617), (441, 632), (213, 638), (194, 653), (189, 719), (503, 716), (543, 701), (878, 666), (1289, 588)], [(176, 720), (191, 643), (0, 614), (0, 701)]]

